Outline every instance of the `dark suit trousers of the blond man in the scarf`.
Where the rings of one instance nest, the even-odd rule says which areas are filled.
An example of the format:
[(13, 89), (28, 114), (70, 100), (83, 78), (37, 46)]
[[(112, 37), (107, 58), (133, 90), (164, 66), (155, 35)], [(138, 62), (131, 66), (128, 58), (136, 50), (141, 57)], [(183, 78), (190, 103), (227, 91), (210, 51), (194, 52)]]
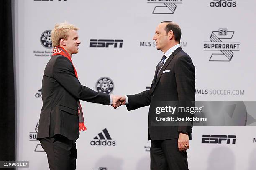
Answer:
[(47, 154), (50, 170), (75, 170), (77, 149), (75, 141), (62, 135), (39, 140)]

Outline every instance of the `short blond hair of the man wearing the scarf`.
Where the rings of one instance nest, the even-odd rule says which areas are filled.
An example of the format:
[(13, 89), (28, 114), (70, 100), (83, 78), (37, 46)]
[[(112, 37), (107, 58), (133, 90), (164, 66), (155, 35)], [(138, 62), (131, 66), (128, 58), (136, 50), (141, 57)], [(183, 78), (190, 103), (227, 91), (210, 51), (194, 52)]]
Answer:
[(59, 41), (63, 38), (67, 40), (69, 30), (79, 30), (78, 27), (73, 24), (69, 24), (66, 21), (64, 23), (55, 24), (54, 29), (51, 30), (52, 46), (57, 47), (60, 45)]

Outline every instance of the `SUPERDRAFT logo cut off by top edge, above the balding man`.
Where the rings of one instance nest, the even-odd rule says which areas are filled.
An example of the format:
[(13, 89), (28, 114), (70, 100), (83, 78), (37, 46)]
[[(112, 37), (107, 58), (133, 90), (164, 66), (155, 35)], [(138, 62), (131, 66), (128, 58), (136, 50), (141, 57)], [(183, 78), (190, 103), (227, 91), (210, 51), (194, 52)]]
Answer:
[(152, 14), (173, 14), (182, 0), (147, 0), (147, 3), (155, 5)]

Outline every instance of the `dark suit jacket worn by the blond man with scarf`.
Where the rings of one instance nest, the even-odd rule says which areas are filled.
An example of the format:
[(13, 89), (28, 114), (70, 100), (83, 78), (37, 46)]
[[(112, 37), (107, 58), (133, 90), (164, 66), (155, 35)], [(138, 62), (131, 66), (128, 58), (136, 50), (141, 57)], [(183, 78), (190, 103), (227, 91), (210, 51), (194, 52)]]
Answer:
[(42, 82), (43, 107), (37, 139), (61, 134), (70, 140), (79, 137), (77, 100), (109, 105), (110, 96), (80, 84), (72, 63), (62, 55), (51, 56)]

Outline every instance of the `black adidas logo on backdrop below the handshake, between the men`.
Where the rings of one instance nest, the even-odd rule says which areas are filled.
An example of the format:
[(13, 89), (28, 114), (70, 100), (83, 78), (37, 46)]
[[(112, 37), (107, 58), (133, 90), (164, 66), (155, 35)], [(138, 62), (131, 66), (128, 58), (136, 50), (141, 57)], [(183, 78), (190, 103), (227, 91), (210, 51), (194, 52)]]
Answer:
[(115, 146), (115, 141), (110, 137), (108, 130), (105, 128), (102, 130), (103, 133), (98, 133), (91, 141), (91, 145), (93, 146)]

